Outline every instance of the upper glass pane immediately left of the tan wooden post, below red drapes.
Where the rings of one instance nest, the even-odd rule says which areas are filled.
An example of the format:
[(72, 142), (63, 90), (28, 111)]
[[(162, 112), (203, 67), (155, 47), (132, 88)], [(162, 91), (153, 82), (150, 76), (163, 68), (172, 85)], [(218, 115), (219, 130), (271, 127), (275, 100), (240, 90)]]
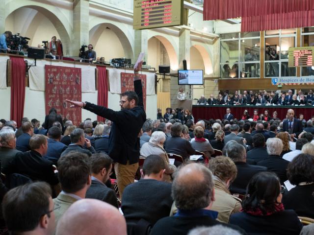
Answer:
[(241, 62), (260, 61), (260, 39), (241, 39)]

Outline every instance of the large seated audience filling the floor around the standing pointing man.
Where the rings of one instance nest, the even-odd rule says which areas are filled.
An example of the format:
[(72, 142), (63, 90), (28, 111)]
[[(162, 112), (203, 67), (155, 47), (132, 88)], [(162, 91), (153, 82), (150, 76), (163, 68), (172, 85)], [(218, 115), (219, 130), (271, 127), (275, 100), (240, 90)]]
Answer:
[[(144, 163), (122, 201), (107, 155), (110, 120), (88, 118), (75, 126), (51, 115), (42, 127), (23, 118), (18, 128), (1, 119), (2, 229), (187, 235), (206, 227), (232, 234), (299, 234), (298, 216), (314, 218), (312, 119), (302, 121), (310, 117), (300, 120), (292, 109), (284, 120), (268, 113), (256, 121), (230, 114), (194, 123), (170, 109), (160, 119), (147, 119), (138, 135)], [(26, 220), (34, 208), (38, 211)], [(80, 218), (82, 210), (94, 213), (93, 221)]]

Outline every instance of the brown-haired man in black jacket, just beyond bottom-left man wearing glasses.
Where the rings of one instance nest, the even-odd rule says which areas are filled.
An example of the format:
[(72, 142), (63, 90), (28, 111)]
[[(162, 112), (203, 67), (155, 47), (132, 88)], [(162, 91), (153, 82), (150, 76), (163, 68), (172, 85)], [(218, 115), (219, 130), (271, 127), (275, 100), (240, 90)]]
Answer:
[(31, 151), (17, 153), (4, 174), (18, 173), (31, 180), (45, 181), (51, 185), (59, 183), (57, 171), (52, 162), (43, 158), (47, 153), (48, 141), (44, 135), (33, 135), (29, 140)]

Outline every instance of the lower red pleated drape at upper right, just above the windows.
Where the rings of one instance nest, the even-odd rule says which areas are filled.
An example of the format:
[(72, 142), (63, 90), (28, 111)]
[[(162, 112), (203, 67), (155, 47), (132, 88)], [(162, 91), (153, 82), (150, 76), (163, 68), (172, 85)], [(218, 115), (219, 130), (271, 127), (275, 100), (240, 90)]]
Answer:
[(314, 10), (242, 17), (241, 32), (299, 28), (314, 25)]

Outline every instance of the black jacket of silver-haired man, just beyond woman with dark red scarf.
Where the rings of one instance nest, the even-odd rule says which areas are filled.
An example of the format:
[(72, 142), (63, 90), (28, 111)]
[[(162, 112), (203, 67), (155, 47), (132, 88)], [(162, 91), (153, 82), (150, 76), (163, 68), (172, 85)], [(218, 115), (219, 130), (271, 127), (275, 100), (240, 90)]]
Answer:
[(280, 179), (280, 183), (284, 184), (287, 178), (287, 168), (289, 161), (282, 159), (280, 156), (269, 155), (268, 158), (260, 161), (258, 165), (265, 166), (269, 171), (273, 171)]

